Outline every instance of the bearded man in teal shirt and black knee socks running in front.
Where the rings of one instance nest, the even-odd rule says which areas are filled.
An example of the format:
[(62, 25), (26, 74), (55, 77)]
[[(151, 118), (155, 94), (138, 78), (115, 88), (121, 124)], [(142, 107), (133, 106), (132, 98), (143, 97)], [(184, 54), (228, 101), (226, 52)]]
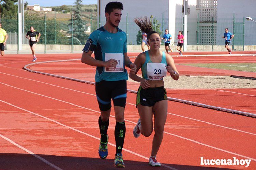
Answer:
[[(95, 75), (96, 96), (101, 111), (98, 119), (100, 128), (99, 156), (105, 159), (108, 156), (108, 125), (111, 111), (111, 98), (115, 110), (115, 140), (116, 154), (115, 167), (125, 167), (122, 158), (122, 148), (125, 137), (124, 108), (126, 103), (126, 80), (128, 79), (126, 67), (131, 68), (134, 74), (134, 65), (127, 56), (126, 33), (118, 28), (121, 20), (123, 4), (109, 2), (105, 7), (106, 24), (89, 36), (82, 54), (82, 62), (97, 66)], [(91, 57), (94, 51), (94, 56)]]

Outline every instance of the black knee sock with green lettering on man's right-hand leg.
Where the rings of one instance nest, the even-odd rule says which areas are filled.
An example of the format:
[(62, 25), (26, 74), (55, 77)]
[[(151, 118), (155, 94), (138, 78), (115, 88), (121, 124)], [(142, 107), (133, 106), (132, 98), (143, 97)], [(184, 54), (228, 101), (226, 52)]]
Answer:
[(116, 122), (115, 140), (116, 140), (116, 156), (122, 152), (125, 136), (125, 122)]

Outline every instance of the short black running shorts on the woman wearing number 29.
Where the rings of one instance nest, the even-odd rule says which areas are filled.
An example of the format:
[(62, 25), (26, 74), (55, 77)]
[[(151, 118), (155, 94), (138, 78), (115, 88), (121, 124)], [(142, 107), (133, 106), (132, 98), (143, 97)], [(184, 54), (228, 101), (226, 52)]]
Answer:
[(156, 102), (167, 100), (166, 89), (164, 86), (142, 89), (140, 86), (137, 93), (136, 108), (142, 106), (154, 106)]

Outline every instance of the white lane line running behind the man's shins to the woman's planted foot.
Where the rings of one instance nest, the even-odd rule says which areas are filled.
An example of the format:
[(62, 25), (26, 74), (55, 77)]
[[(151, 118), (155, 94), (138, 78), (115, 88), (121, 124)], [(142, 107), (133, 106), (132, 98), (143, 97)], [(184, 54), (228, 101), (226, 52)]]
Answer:
[[(18, 107), (18, 106), (15, 106), (15, 105), (13, 105), (13, 104), (11, 104), (11, 103), (6, 102), (6, 101), (3, 101), (3, 100), (0, 100), (0, 101), (3, 102), (3, 103), (5, 103), (5, 104), (7, 104), (7, 105), (10, 105), (10, 106), (13, 106), (13, 107), (15, 107), (15, 108), (18, 108), (18, 109), (20, 109), (20, 110), (23, 110), (23, 111), (26, 111), (26, 112), (28, 112), (28, 113), (31, 113), (31, 114), (33, 114), (33, 115), (36, 115), (36, 116), (42, 117), (42, 118), (44, 118), (44, 119), (47, 119), (47, 120), (49, 120), (49, 121), (51, 121), (51, 122), (54, 122), (54, 123), (56, 123), (56, 124), (58, 124), (58, 125), (64, 126), (64, 127), (69, 128), (69, 129), (71, 129), (71, 130), (74, 130), (74, 131), (76, 131), (76, 132), (79, 132), (79, 133), (82, 133), (82, 134), (87, 135), (87, 136), (89, 136), (89, 137), (92, 137), (92, 138), (94, 138), (94, 139), (100, 140), (100, 138), (98, 138), (98, 137), (96, 137), (96, 136), (90, 135), (89, 133), (82, 132), (82, 131), (80, 131), (80, 130), (77, 130), (77, 129), (75, 129), (75, 128), (72, 128), (72, 127), (70, 127), (70, 126), (67, 126), (67, 125), (65, 125), (65, 124), (62, 124), (62, 123), (60, 123), (60, 122), (58, 122), (58, 121), (52, 120), (52, 119), (50, 119), (50, 118), (48, 118), (48, 117), (42, 116), (42, 115), (40, 115), (40, 114), (31, 112), (31, 111), (26, 110), (26, 109), (23, 109), (23, 108), (20, 108), (20, 107)], [(113, 116), (113, 117), (114, 117), (114, 116)], [(133, 122), (133, 123), (136, 124), (135, 122)], [(108, 144), (111, 145), (111, 146), (116, 147), (115, 144), (112, 144), (112, 143), (110, 143), (110, 142), (108, 142)], [(136, 156), (139, 156), (139, 157), (141, 157), (141, 158), (144, 158), (144, 159), (147, 159), (147, 160), (149, 159), (149, 158), (146, 157), (146, 156), (140, 155), (140, 154), (135, 153), (135, 152), (133, 152), (133, 151), (130, 151), (130, 150), (128, 150), (128, 149), (123, 148), (123, 150), (126, 151), (126, 152), (129, 152), (129, 153), (131, 153), (131, 154), (134, 154), (134, 155), (136, 155)], [(170, 167), (170, 166), (168, 166), (168, 165), (165, 165), (165, 164), (161, 164), (161, 165), (162, 165), (162, 166), (165, 166), (165, 167), (167, 167), (167, 168), (169, 168), (169, 169), (172, 169), (172, 170), (177, 170), (177, 169), (175, 169), (175, 168), (173, 168), (173, 167)]]

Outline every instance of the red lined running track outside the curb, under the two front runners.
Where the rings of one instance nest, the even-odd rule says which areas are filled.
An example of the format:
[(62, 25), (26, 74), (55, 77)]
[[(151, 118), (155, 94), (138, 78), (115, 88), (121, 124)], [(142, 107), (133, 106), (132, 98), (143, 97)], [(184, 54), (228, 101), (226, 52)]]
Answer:
[[(68, 56), (58, 59), (78, 58)], [(49, 55), (40, 57), (42, 60), (57, 59)], [(3, 58), (5, 65), (0, 66), (0, 134), (9, 138), (7, 141), (0, 137), (0, 169), (52, 169), (51, 164), (61, 169), (114, 169), (113, 117), (109, 126), (109, 156), (101, 160), (97, 155), (99, 109), (94, 86), (22, 70), (30, 58), (12, 56), (14, 61), (6, 61), (6, 56)], [(150, 154), (153, 136), (135, 139), (132, 135), (139, 117), (135, 99), (136, 94), (128, 93), (124, 161), (128, 169), (153, 169), (145, 158)], [(171, 101), (168, 105), (164, 139), (157, 155), (166, 166), (160, 169), (256, 168), (254, 118)], [(11, 144), (11, 140), (42, 159)], [(249, 157), (252, 161), (248, 168), (242, 165), (205, 166), (200, 165), (200, 157)]]

